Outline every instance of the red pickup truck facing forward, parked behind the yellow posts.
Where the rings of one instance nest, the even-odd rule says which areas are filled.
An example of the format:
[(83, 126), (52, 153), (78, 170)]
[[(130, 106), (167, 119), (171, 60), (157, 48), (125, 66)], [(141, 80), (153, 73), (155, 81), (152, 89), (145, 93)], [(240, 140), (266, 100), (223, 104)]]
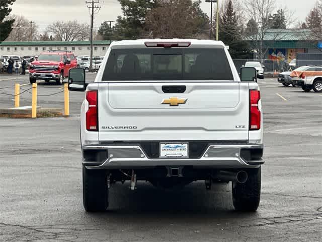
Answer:
[(77, 60), (71, 51), (43, 52), (30, 65), (30, 84), (36, 83), (37, 80), (46, 82), (54, 80), (57, 85), (62, 85), (64, 78), (68, 77), (69, 69), (75, 67), (77, 67)]

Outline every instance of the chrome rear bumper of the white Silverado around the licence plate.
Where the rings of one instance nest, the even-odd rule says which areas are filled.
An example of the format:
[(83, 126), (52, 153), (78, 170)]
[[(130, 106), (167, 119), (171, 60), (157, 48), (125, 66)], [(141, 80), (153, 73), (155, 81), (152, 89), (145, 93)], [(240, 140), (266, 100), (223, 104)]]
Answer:
[[(246, 160), (242, 149), (263, 149), (263, 144), (210, 145), (200, 158), (149, 158), (139, 145), (88, 145), (83, 150), (107, 150), (108, 157), (100, 165), (83, 161), (89, 169), (144, 168), (155, 166), (194, 166), (194, 168), (255, 168), (262, 159)], [(97, 162), (96, 162), (97, 163)]]

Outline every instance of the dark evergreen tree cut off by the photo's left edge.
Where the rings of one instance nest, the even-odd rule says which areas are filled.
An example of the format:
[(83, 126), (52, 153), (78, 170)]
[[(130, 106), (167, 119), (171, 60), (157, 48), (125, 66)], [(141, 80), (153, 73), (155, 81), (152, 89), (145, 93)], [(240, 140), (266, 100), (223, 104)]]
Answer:
[(0, 5), (0, 43), (8, 38), (9, 34), (12, 31), (12, 25), (15, 22), (15, 19), (5, 20), (7, 16), (11, 13), (12, 9), (10, 6), (16, 0), (1, 0)]

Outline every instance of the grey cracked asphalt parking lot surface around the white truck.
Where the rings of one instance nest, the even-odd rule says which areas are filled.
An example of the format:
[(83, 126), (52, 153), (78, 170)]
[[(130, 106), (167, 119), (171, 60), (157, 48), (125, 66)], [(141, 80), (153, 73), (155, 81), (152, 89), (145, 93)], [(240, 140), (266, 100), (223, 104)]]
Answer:
[[(13, 94), (1, 88), (14, 83), (30, 87), (28, 76), (0, 76), (0, 92)], [(0, 118), (0, 241), (321, 241), (322, 93), (271, 78), (259, 85), (266, 163), (257, 212), (233, 210), (230, 184), (206, 191), (202, 182), (170, 191), (116, 184), (107, 212), (85, 212), (78, 127), (84, 93), (71, 92), (69, 117)], [(38, 86), (41, 94), (63, 90)], [(30, 103), (31, 94), (23, 94), (21, 105)], [(38, 103), (63, 107), (63, 93)], [(0, 107), (13, 105), (0, 94)]]

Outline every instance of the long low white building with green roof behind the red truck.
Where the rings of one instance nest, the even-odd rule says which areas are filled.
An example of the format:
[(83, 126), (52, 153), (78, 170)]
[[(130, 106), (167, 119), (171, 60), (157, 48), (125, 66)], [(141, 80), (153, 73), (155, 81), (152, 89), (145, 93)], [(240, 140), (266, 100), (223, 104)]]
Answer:
[[(94, 41), (93, 56), (105, 55), (111, 41)], [(1, 55), (39, 55), (49, 50), (70, 50), (74, 55), (90, 55), (90, 41), (4, 41), (0, 43)]]

